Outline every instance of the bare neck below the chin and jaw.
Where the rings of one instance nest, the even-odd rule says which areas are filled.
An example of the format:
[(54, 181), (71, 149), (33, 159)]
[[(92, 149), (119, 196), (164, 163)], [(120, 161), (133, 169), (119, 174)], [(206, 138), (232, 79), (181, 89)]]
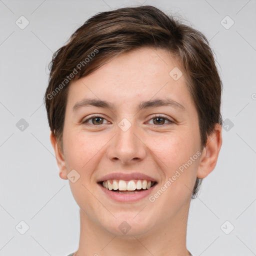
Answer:
[(186, 249), (188, 209), (189, 204), (184, 205), (176, 216), (146, 233), (127, 232), (125, 236), (109, 233), (80, 209), (79, 247), (74, 256), (189, 256)]

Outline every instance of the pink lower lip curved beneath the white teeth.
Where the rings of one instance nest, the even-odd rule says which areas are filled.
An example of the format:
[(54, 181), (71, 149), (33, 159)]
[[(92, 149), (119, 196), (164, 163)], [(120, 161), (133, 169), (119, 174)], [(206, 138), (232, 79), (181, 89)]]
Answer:
[(102, 189), (102, 191), (109, 196), (111, 199), (118, 201), (118, 202), (134, 202), (137, 201), (139, 199), (142, 199), (146, 196), (148, 196), (151, 191), (154, 189), (154, 187), (156, 185), (151, 186), (148, 189), (142, 190), (140, 192), (137, 193), (116, 193), (113, 192), (112, 190), (108, 190), (107, 188), (103, 187), (101, 184), (98, 184), (100, 186), (100, 188)]

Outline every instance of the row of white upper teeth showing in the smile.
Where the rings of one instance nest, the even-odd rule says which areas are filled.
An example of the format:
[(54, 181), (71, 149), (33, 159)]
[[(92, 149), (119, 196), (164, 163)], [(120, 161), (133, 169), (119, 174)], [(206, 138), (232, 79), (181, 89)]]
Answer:
[(108, 190), (119, 190), (119, 191), (134, 191), (136, 189), (149, 189), (154, 184), (151, 180), (138, 179), (136, 180), (116, 180), (108, 179), (102, 182), (103, 187)]

